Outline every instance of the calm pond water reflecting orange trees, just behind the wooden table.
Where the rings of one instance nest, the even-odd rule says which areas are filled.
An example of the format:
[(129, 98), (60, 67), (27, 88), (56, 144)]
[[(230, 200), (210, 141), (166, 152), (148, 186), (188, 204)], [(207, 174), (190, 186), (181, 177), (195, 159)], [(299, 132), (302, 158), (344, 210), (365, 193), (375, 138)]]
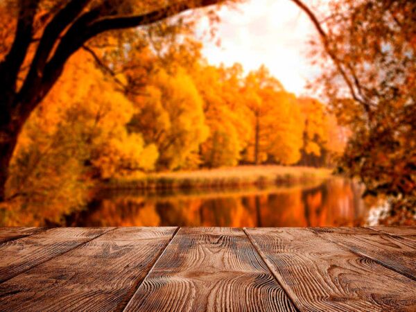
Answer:
[(179, 193), (97, 194), (68, 226), (353, 226), (365, 219), (361, 187), (341, 178), (317, 185)]

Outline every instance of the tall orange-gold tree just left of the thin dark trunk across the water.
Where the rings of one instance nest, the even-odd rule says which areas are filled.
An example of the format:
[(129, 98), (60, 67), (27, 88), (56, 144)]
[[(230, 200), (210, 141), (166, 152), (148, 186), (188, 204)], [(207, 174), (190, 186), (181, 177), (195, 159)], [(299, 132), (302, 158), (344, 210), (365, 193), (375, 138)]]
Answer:
[(252, 137), (250, 110), (241, 88), (243, 69), (199, 64), (191, 73), (204, 100), (209, 137), (201, 146), (203, 166), (235, 166)]

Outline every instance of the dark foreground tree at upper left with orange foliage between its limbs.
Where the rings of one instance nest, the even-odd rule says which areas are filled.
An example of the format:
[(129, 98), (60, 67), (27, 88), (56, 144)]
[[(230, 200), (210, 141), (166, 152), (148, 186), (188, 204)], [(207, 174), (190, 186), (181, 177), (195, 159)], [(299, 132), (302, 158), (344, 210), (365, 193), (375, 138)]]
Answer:
[[(3, 1), (15, 15), (11, 42), (0, 60), (0, 201), (17, 137), (28, 116), (60, 77), (69, 57), (96, 35), (147, 26), (220, 0), (196, 1)], [(2, 19), (8, 23), (8, 19)], [(7, 33), (7, 31), (6, 31)], [(3, 34), (2, 34), (3, 35)], [(9, 40), (10, 39), (10, 40)]]

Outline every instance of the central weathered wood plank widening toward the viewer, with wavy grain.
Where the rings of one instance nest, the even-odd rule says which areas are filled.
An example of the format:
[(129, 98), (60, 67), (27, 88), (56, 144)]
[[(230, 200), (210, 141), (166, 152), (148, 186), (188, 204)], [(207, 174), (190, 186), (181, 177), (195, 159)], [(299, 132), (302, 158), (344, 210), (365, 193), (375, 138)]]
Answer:
[(181, 228), (125, 311), (294, 311), (242, 229)]

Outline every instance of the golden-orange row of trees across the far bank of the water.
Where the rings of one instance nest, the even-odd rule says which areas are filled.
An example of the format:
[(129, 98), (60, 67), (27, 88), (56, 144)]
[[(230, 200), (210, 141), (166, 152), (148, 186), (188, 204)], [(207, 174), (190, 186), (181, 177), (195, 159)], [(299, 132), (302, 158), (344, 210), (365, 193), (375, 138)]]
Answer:
[(10, 196), (75, 203), (96, 180), (238, 164), (331, 166), (342, 152), (345, 133), (325, 105), (286, 92), (266, 67), (244, 74), (240, 64), (209, 65), (196, 42), (164, 55), (150, 48), (123, 55), (114, 76), (88, 51), (73, 55), (19, 136)]

